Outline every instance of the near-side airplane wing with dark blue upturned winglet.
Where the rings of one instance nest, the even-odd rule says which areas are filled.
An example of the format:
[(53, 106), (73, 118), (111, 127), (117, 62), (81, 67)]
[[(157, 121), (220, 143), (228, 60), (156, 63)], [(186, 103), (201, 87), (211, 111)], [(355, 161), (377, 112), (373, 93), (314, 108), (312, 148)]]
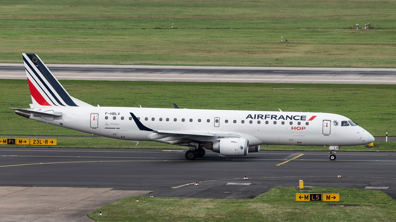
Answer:
[(139, 119), (130, 113), (133, 120), (135, 121), (139, 130), (150, 131), (153, 134), (150, 135), (150, 139), (162, 139), (163, 141), (170, 141), (170, 144), (174, 145), (187, 145), (188, 143), (200, 143), (201, 145), (213, 143), (217, 138), (226, 137), (237, 137), (239, 135), (234, 134), (215, 134), (209, 132), (191, 132), (191, 131), (171, 131), (171, 130), (154, 130), (143, 125)]

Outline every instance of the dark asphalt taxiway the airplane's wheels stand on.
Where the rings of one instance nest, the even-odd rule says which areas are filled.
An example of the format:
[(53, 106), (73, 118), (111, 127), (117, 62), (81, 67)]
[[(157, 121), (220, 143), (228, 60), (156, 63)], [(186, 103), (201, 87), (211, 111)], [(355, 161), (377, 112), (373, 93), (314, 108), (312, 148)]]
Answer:
[(194, 161), (184, 153), (1, 148), (0, 186), (111, 187), (158, 190), (154, 196), (246, 199), (275, 186), (298, 186), (301, 179), (305, 186), (378, 189), (396, 199), (394, 152), (337, 152), (335, 161), (327, 152), (259, 151), (226, 157), (207, 151)]

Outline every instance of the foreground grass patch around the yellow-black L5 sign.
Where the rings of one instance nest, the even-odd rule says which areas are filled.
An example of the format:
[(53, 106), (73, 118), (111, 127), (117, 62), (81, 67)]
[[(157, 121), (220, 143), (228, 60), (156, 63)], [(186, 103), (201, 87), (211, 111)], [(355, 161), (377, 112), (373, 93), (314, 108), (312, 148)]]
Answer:
[[(339, 202), (296, 202), (295, 187), (276, 187), (254, 199), (130, 197), (89, 213), (111, 221), (394, 221), (396, 202), (377, 190), (312, 187), (312, 193), (340, 194)], [(139, 202), (135, 200), (139, 198)], [(329, 207), (330, 205), (357, 205)], [(101, 211), (103, 215), (97, 215)]]

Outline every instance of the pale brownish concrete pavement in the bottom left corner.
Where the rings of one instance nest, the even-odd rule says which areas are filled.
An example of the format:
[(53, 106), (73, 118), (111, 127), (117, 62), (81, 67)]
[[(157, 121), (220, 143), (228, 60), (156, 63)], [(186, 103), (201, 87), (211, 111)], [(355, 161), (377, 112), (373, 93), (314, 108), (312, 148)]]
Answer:
[(92, 222), (100, 207), (150, 191), (112, 188), (0, 186), (1, 222)]

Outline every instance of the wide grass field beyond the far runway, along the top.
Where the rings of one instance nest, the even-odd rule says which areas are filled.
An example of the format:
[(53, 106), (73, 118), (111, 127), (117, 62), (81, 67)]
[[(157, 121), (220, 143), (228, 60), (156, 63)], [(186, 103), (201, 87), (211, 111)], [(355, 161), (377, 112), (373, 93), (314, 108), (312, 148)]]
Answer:
[(358, 0), (2, 1), (0, 62), (36, 53), (63, 64), (396, 67), (395, 10)]

